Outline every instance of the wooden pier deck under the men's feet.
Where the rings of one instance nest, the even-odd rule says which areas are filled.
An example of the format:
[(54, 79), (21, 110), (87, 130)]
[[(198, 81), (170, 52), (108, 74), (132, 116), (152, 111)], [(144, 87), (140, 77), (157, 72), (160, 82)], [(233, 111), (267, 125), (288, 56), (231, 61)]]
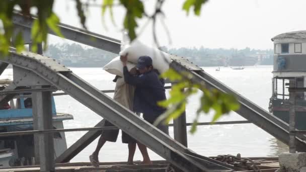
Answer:
[[(274, 172), (279, 168), (278, 157), (251, 157), (261, 172)], [(169, 163), (166, 160), (152, 161), (153, 164), (142, 165), (140, 161), (135, 161), (135, 165), (126, 165), (126, 162), (100, 162), (99, 167), (94, 167), (90, 162), (70, 162), (57, 163), (55, 170), (58, 172), (85, 172), (85, 171), (105, 171), (105, 172), (165, 172)], [(234, 167), (234, 166), (233, 166)], [(253, 169), (246, 167), (235, 167), (239, 172), (252, 172)], [(16, 166), (0, 168), (0, 172), (36, 172), (40, 171), (39, 165)]]

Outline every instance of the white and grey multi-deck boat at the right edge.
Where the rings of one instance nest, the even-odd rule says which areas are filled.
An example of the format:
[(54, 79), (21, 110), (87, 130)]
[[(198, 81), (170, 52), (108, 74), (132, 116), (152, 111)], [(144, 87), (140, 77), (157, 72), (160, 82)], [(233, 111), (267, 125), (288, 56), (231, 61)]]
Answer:
[[(289, 80), (295, 87), (306, 87), (306, 31), (277, 35), (274, 43), (272, 96), (269, 111), (284, 122), (289, 122)], [(296, 128), (306, 130), (306, 92), (296, 93)]]

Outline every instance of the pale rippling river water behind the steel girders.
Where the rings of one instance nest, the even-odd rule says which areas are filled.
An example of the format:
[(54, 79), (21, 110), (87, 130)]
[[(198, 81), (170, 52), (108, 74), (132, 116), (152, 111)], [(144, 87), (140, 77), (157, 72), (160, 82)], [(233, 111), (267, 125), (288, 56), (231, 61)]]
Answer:
[[(71, 70), (100, 90), (114, 89), (115, 84), (112, 82), (114, 75), (108, 74), (102, 68), (71, 68)], [(272, 66), (247, 66), (244, 70), (221, 67), (220, 71), (215, 71), (215, 67), (205, 67), (204, 70), (260, 107), (268, 109), (268, 101), (271, 96)], [(5, 77), (13, 77), (12, 69), (7, 69), (1, 75), (1, 78)], [(108, 94), (108, 96), (112, 97), (113, 94)], [(186, 111), (187, 122), (193, 121), (199, 106), (199, 96), (195, 95), (189, 99)], [(65, 128), (93, 127), (102, 120), (99, 115), (69, 96), (57, 96), (55, 103), (57, 112), (74, 116), (74, 120), (64, 121)], [(202, 115), (200, 122), (209, 122), (211, 119), (212, 113)], [(221, 117), (219, 121), (236, 120), (245, 119), (232, 112)], [(67, 145), (70, 146), (85, 133), (67, 132)], [(170, 128), (170, 133), (173, 137), (173, 128)], [(72, 161), (88, 161), (88, 156), (95, 149), (97, 141), (96, 139)], [(188, 134), (188, 147), (205, 156), (236, 155), (237, 153), (241, 153), (242, 156), (276, 156), (281, 152), (288, 151), (287, 146), (254, 124), (199, 126), (194, 135)], [(153, 160), (162, 159), (152, 151), (149, 154)], [(99, 158), (100, 161), (125, 161), (127, 159), (127, 145), (121, 143), (121, 133), (116, 143), (108, 142), (104, 145)], [(136, 150), (134, 159), (141, 160), (141, 154), (138, 150)]]

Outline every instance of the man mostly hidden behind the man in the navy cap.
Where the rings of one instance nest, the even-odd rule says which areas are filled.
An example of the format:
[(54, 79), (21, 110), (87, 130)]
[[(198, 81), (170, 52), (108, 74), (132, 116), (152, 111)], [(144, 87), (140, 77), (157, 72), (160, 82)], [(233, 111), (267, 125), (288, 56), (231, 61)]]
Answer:
[[(130, 72), (131, 74), (132, 73), (135, 74), (136, 73), (135, 68), (134, 70), (132, 69)], [(114, 100), (120, 103), (121, 105), (123, 105), (124, 107), (132, 110), (135, 88), (132, 85), (126, 84), (124, 82), (124, 79), (117, 75), (113, 81), (116, 82)], [(104, 126), (113, 127), (114, 125), (110, 123), (109, 121), (105, 121)], [(93, 166), (96, 166), (96, 167), (99, 166), (98, 155), (99, 155), (99, 151), (102, 148), (102, 146), (106, 143), (106, 141), (116, 142), (118, 134), (119, 134), (119, 129), (102, 131), (101, 137), (96, 147), (96, 150), (93, 152), (92, 155), (89, 156), (89, 159)], [(135, 148), (136, 148), (136, 140), (123, 131), (122, 131), (121, 139), (122, 139), (122, 143), (128, 144), (127, 164), (133, 164), (133, 157), (134, 157)]]

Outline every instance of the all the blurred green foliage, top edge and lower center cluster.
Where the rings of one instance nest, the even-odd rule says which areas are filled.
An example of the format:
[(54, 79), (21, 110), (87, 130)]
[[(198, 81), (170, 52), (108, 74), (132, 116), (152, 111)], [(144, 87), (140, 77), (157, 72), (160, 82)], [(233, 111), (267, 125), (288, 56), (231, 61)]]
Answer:
[[(81, 1), (74, 0), (75, 8), (78, 12), (80, 23), (83, 29), (86, 27), (86, 13), (89, 6), (89, 2), (92, 1)], [(110, 11), (111, 19), (113, 20), (113, 8), (116, 6), (122, 6), (126, 10), (126, 14), (123, 21), (123, 28), (127, 30), (130, 40), (134, 40), (137, 37), (136, 29), (138, 28), (138, 19), (148, 18), (153, 21), (153, 24), (156, 24), (156, 17), (158, 15), (165, 16), (165, 13), (162, 9), (162, 6), (165, 0), (156, 0), (155, 13), (152, 15), (147, 15), (145, 13), (143, 2), (140, 0), (102, 0), (101, 12), (104, 19), (104, 15), (107, 9)], [(207, 2), (207, 0), (186, 0), (183, 3), (182, 9), (186, 11), (186, 14), (189, 15), (191, 9), (196, 16), (200, 16), (201, 7)], [(14, 8), (21, 9), (20, 13), (27, 17), (35, 17), (37, 20), (34, 20), (31, 30), (31, 39), (32, 39), (32, 51), (37, 52), (37, 44), (42, 43), (44, 49), (47, 47), (47, 33), (49, 30), (52, 30), (58, 36), (63, 37), (58, 27), (59, 18), (54, 14), (53, 0), (2, 0), (0, 1), (0, 54), (7, 55), (9, 53), (9, 48), (11, 46), (11, 38), (15, 39), (12, 44), (17, 48), (17, 51), (20, 52), (24, 49), (24, 41), (22, 33), (14, 33)], [(31, 9), (36, 9), (36, 14), (33, 16), (30, 11)], [(154, 27), (155, 28), (155, 27)], [(156, 33), (154, 29), (154, 36), (156, 38)], [(157, 39), (156, 44), (157, 43)], [(159, 120), (162, 118), (166, 119), (166, 122), (169, 122), (171, 119), (179, 117), (182, 112), (185, 111), (185, 106), (187, 104), (188, 97), (193, 94), (196, 94), (198, 90), (203, 92), (203, 95), (200, 99), (201, 106), (197, 110), (197, 115), (194, 119), (194, 124), (192, 126), (191, 132), (193, 133), (196, 130), (196, 123), (199, 118), (199, 115), (204, 112), (208, 113), (211, 109), (214, 110), (214, 118), (212, 122), (216, 121), (222, 114), (226, 114), (231, 110), (237, 110), (239, 104), (232, 95), (224, 94), (216, 90), (208, 90), (205, 85), (202, 83), (196, 83), (192, 81), (192, 75), (190, 73), (182, 73), (180, 71), (175, 71), (170, 69), (167, 72), (162, 74), (162, 77), (169, 78), (172, 81), (176, 81), (177, 84), (173, 86), (173, 89), (170, 92), (170, 98), (166, 101), (160, 102), (160, 106), (168, 108), (167, 113), (165, 113)]]

